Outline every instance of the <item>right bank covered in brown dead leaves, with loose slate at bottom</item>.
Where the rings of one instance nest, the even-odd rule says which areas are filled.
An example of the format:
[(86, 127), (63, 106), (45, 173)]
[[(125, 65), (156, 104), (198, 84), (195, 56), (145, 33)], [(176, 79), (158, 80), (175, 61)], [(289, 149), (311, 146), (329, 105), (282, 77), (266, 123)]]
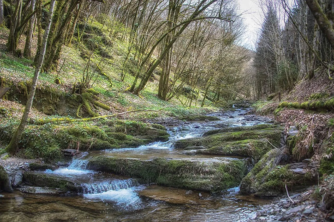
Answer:
[[(259, 211), (252, 221), (334, 220), (331, 208), (334, 206), (333, 96), (333, 79), (326, 71), (319, 71), (314, 79), (304, 79), (291, 92), (283, 94), (281, 102), (276, 95), (271, 100), (258, 101), (253, 105), (258, 114), (275, 119), (285, 125), (286, 130), (291, 127), (298, 129), (295, 138), (288, 141), (289, 161), (315, 161), (316, 171), (313, 172), (317, 174), (318, 185), (290, 194), (291, 200), (286, 194), (277, 198)], [(324, 104), (330, 104), (331, 109), (324, 108)]]

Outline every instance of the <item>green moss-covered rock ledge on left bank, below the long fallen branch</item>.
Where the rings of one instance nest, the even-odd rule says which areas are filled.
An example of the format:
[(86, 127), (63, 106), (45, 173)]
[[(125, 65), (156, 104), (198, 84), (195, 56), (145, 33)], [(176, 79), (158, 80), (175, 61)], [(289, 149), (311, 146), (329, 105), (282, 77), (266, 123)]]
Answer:
[[(38, 156), (56, 162), (63, 158), (62, 150), (67, 147), (80, 150), (128, 148), (169, 138), (166, 128), (158, 124), (118, 119), (86, 122), (57, 122), (53, 119), (57, 120), (45, 118), (38, 121), (42, 122), (41, 125), (27, 125), (19, 144), (21, 153), (28, 158)], [(0, 140), (3, 144), (10, 142), (18, 123), (8, 121), (0, 124)]]

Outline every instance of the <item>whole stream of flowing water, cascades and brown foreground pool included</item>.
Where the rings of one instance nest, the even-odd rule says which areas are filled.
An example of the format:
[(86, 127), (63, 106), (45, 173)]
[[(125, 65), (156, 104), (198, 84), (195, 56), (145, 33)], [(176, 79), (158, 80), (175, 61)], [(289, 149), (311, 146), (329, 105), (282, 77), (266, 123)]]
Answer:
[[(263, 117), (246, 115), (247, 111), (235, 109), (212, 114), (221, 119), (218, 121), (171, 126), (171, 137), (167, 142), (83, 153), (66, 168), (45, 171), (80, 184), (82, 192), (71, 195), (35, 195), (18, 191), (1, 193), (4, 196), (0, 197), (0, 221), (246, 221), (268, 201), (240, 195), (238, 187), (219, 194), (209, 194), (139, 184), (133, 178), (86, 168), (89, 158), (96, 155), (142, 160), (154, 157), (214, 158), (212, 155), (189, 156), (174, 150), (173, 145), (179, 139), (200, 137), (210, 129), (252, 126), (268, 121)], [(202, 198), (199, 198), (200, 195)]]

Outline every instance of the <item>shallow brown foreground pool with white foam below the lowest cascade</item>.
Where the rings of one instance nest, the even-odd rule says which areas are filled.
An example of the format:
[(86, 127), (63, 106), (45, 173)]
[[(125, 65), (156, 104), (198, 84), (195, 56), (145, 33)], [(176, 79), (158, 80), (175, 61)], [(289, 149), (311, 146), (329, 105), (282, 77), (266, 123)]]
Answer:
[[(82, 196), (1, 193), (0, 221), (245, 221), (267, 200), (150, 186)], [(145, 192), (144, 192), (145, 191)], [(139, 192), (139, 195), (137, 194)]]

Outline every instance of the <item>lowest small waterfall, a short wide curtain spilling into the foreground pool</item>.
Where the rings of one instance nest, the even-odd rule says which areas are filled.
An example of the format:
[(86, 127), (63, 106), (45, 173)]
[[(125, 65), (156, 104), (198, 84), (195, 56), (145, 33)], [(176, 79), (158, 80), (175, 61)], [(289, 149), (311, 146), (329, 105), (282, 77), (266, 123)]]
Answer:
[(103, 181), (98, 183), (82, 183), (82, 192), (84, 194), (98, 194), (104, 193), (110, 190), (119, 191), (121, 189), (128, 189), (139, 185), (135, 179), (119, 180), (115, 179), (112, 181)]

